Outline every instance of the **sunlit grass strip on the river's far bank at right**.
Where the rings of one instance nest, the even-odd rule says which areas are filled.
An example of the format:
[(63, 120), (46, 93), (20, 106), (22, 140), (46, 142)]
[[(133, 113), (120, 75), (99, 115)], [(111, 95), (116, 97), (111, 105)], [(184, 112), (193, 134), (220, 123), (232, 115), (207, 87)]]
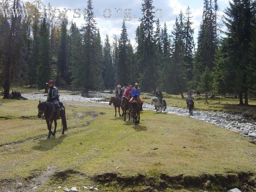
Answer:
[[(143, 100), (150, 102), (150, 99), (154, 97), (153, 94), (142, 95)], [(163, 98), (166, 100), (167, 105), (187, 108), (186, 105), (186, 95), (184, 94), (184, 99), (181, 98), (181, 95), (172, 95), (163, 93)], [(240, 106), (239, 99), (235, 98), (220, 98), (220, 103), (217, 99), (207, 99), (208, 103), (205, 103), (205, 98), (200, 97), (196, 98), (194, 96), (195, 109), (197, 110), (209, 110), (209, 111), (221, 111), (221, 112), (230, 112), (230, 113), (247, 113), (248, 115), (256, 118), (256, 100), (249, 99), (249, 104), (251, 106)]]

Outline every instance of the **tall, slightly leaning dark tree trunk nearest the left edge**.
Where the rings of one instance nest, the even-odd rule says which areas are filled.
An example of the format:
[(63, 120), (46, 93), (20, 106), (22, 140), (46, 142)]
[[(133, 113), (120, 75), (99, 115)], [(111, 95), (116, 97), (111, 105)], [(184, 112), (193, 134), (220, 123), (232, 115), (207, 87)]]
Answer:
[[(18, 0), (17, 0), (17, 7), (18, 7)], [(13, 3), (13, 9), (16, 8), (16, 0)], [(12, 47), (13, 47), (13, 35), (15, 32), (15, 23), (16, 17), (11, 18), (11, 30), (9, 34), (9, 41), (8, 41), (8, 53), (7, 53), (7, 60), (5, 65), (5, 80), (4, 80), (4, 98), (9, 98), (10, 96), (10, 87), (11, 87), (11, 59), (12, 59)]]

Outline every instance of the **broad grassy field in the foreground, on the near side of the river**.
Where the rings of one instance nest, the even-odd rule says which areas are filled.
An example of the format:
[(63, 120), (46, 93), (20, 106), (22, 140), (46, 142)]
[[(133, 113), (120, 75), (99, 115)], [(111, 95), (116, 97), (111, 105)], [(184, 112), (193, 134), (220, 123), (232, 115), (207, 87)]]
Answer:
[(68, 105), (68, 132), (46, 139), (38, 102), (0, 102), (0, 191), (256, 188), (255, 144), (218, 126), (152, 111), (134, 126), (112, 108)]

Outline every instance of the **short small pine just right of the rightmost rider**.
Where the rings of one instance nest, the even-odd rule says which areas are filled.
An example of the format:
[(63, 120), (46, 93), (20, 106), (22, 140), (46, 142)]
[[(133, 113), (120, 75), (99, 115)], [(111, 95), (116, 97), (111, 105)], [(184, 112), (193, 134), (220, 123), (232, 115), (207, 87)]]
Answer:
[(207, 103), (207, 94), (212, 90), (212, 76), (208, 67), (203, 72), (198, 89), (205, 93), (205, 102)]

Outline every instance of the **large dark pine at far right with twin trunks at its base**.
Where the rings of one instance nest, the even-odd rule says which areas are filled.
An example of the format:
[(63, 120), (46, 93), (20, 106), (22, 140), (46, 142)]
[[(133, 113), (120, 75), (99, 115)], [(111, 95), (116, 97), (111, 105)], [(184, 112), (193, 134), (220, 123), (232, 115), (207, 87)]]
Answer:
[(239, 93), (239, 103), (248, 105), (247, 67), (249, 62), (249, 42), (252, 38), (253, 11), (249, 0), (233, 0), (225, 11), (228, 44), (228, 62), (233, 64), (236, 74), (235, 90)]

